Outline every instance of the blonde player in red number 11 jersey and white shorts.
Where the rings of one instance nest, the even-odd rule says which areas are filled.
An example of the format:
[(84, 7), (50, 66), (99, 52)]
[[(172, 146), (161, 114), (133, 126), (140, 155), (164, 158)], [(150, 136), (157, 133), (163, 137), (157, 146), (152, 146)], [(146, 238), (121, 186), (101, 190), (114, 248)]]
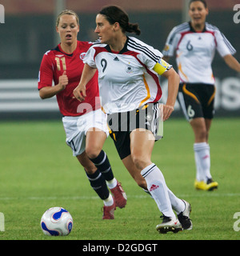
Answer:
[(91, 44), (77, 40), (79, 19), (72, 10), (64, 10), (58, 15), (56, 29), (61, 42), (54, 50), (47, 51), (42, 58), (39, 94), (42, 99), (56, 95), (63, 115), (66, 143), (84, 167), (90, 185), (104, 202), (102, 218), (113, 219), (116, 206), (122, 208), (126, 205), (126, 194), (114, 178), (110, 162), (102, 150), (109, 131), (106, 114), (102, 112), (97, 101), (97, 74), (86, 85), (88, 95), (84, 102), (78, 102), (73, 94), (82, 75), (82, 59)]

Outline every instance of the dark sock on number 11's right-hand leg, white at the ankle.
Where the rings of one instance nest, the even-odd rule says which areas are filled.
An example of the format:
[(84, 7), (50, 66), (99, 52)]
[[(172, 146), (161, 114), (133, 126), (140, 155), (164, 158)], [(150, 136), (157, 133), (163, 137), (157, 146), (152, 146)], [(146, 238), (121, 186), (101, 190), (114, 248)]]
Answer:
[(94, 165), (100, 170), (104, 178), (106, 179), (107, 185), (110, 189), (117, 186), (117, 180), (114, 178), (113, 170), (110, 166), (110, 162), (107, 158), (106, 153), (101, 150), (97, 158), (90, 158)]

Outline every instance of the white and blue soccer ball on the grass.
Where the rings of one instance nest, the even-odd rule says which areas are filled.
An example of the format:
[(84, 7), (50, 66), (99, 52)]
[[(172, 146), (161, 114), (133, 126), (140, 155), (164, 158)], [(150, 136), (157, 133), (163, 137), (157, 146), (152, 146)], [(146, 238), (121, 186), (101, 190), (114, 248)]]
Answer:
[(73, 228), (73, 218), (70, 213), (62, 207), (52, 207), (42, 215), (42, 232), (47, 235), (68, 235)]

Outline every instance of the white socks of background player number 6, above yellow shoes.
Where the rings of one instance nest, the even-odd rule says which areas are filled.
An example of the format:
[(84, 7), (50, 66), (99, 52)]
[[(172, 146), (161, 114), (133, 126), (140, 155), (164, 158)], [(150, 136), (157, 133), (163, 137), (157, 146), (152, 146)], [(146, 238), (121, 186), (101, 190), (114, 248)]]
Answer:
[(210, 174), (210, 146), (206, 142), (194, 143), (194, 157), (198, 182), (212, 178)]

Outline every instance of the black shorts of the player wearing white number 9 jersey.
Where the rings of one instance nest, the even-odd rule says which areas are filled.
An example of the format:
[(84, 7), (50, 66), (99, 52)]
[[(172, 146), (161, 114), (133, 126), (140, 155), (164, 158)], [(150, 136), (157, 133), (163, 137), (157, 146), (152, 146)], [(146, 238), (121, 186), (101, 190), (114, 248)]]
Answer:
[(162, 138), (163, 128), (160, 119), (158, 103), (148, 103), (138, 110), (108, 114), (110, 137), (114, 140), (119, 157), (123, 159), (131, 154), (130, 133), (135, 129), (150, 130), (155, 141)]

